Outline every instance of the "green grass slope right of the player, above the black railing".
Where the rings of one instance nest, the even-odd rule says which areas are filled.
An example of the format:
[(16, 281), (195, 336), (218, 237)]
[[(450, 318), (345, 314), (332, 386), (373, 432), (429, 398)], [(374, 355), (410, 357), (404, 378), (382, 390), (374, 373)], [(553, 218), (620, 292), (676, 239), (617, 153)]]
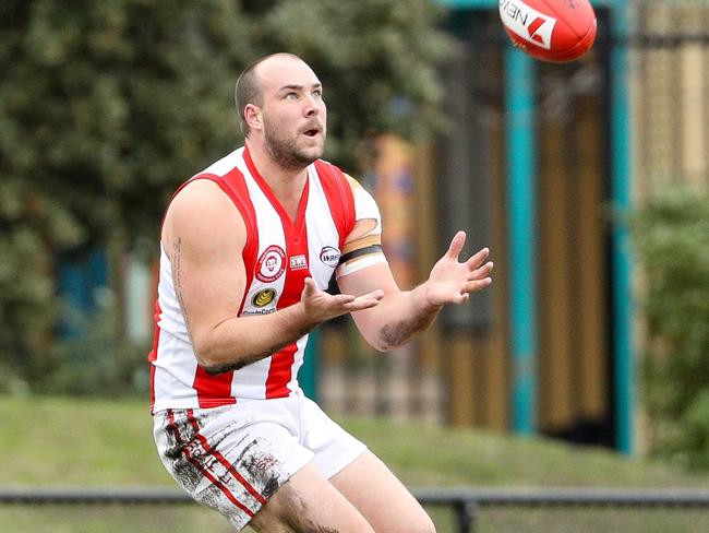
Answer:
[(709, 482), (709, 473), (693, 475), (613, 450), (552, 439), (381, 419), (344, 422), (414, 485), (697, 487)]

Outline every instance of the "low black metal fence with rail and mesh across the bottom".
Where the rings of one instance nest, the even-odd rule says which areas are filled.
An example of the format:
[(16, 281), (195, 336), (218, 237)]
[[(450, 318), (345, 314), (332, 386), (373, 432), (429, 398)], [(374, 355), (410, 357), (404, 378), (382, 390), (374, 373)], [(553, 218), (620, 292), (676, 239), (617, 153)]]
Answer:
[[(460, 488), (419, 487), (412, 489), (417, 499), (426, 508), (447, 508), (452, 513), (448, 529), (452, 533), (484, 533), (486, 531), (668, 531), (700, 532), (709, 526), (709, 490), (699, 489), (639, 489), (639, 488)], [(135, 513), (136, 506), (192, 506), (190, 497), (179, 490), (127, 487), (127, 488), (3, 488), (0, 489), (0, 516), (9, 507), (62, 506), (112, 506)], [(575, 512), (563, 520), (555, 520), (553, 513), (563, 509)], [(491, 512), (515, 510), (506, 519), (491, 518)], [(596, 512), (594, 522), (585, 529), (580, 518), (585, 511)], [(611, 516), (618, 510), (635, 514)], [(652, 514), (661, 511), (661, 514)], [(695, 513), (699, 511), (699, 513)], [(541, 514), (540, 514), (541, 512)], [(525, 514), (527, 513), (527, 514)], [(534, 514), (537, 513), (537, 514)], [(57, 516), (58, 513), (50, 513)], [(79, 512), (72, 513), (74, 516)], [(216, 514), (216, 513), (213, 513)], [(647, 514), (640, 521), (639, 514)], [(658, 518), (661, 517), (661, 520)], [(103, 518), (106, 519), (106, 516)], [(503, 522), (506, 525), (503, 525)], [(632, 522), (637, 523), (636, 526)], [(662, 522), (666, 524), (663, 528)], [(684, 522), (684, 525), (683, 525)], [(598, 525), (601, 524), (602, 525)], [(2, 531), (10, 528), (3, 521)], [(47, 526), (55, 530), (55, 524)], [(14, 530), (13, 530), (14, 531)], [(20, 530), (29, 531), (29, 530)], [(40, 530), (47, 531), (47, 530)], [(86, 529), (80, 532), (113, 531), (111, 529)], [(170, 524), (152, 525), (149, 531), (175, 531)], [(214, 530), (211, 530), (214, 531)]]

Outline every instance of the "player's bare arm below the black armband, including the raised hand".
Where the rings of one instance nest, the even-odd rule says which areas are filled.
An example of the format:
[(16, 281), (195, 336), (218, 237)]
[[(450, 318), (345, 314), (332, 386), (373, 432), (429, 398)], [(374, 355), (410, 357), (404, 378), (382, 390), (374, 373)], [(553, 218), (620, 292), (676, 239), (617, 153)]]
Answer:
[(374, 287), (384, 291), (384, 298), (376, 308), (352, 313), (358, 329), (373, 347), (384, 352), (400, 346), (428, 328), (444, 305), (464, 304), (470, 293), (490, 286), (493, 264), (484, 262), (489, 254), (486, 248), (458, 262), (465, 239), (465, 233), (458, 232), (429, 279), (412, 291), (399, 291), (385, 263), (338, 280), (340, 289), (348, 294), (364, 294)]

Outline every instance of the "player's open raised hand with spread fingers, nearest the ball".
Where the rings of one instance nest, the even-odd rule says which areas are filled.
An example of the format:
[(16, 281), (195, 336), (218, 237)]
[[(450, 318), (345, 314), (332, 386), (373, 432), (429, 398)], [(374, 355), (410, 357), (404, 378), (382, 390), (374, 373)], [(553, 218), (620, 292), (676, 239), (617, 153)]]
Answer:
[[(458, 232), (448, 247), (448, 251), (435, 263), (426, 282), (429, 304), (443, 306), (446, 304), (464, 304), (470, 293), (489, 287), (492, 283), (492, 261), (484, 262), (490, 254), (483, 248), (465, 262), (458, 262), (458, 257), (466, 244), (465, 232)], [(483, 264), (484, 263), (484, 264)]]

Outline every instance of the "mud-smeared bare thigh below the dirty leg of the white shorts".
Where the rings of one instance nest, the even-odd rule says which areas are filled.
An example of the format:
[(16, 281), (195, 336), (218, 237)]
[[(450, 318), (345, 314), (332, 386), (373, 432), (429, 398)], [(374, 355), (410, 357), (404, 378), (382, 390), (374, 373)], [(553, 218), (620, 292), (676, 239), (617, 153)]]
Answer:
[(293, 474), (250, 525), (264, 533), (374, 533), (362, 514), (313, 464)]

